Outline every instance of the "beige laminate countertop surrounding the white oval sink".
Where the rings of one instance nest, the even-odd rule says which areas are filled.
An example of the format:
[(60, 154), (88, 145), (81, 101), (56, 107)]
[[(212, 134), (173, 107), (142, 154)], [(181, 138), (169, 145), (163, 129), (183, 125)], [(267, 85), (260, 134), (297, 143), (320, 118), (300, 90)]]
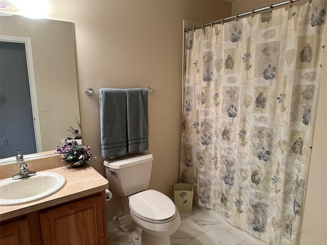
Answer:
[[(57, 162), (58, 157), (59, 156), (55, 158), (55, 162)], [(27, 164), (29, 166), (29, 162), (27, 162)], [(35, 202), (15, 206), (0, 206), (0, 221), (72, 201), (74, 199), (86, 197), (87, 195), (101, 192), (108, 188), (108, 180), (88, 164), (78, 168), (72, 168), (70, 165), (63, 163), (56, 165), (59, 166), (51, 169), (40, 170), (63, 175), (66, 179), (66, 184), (64, 187), (58, 192), (50, 195), (50, 197), (46, 197)], [(4, 173), (5, 169), (1, 169), (2, 168), (0, 166), (0, 171)], [(38, 169), (33, 169), (33, 167), (30, 166), (29, 169), (39, 171)], [(15, 171), (12, 171), (12, 175), (15, 174), (14, 172)], [(3, 179), (4, 178), (2, 178), (0, 181)]]

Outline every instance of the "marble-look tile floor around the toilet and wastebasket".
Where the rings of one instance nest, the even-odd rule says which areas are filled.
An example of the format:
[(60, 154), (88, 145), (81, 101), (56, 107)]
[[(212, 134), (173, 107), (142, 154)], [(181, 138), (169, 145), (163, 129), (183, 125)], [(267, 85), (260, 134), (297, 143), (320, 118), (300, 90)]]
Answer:
[[(220, 223), (196, 206), (192, 212), (180, 212), (181, 223), (170, 236), (172, 245), (257, 245), (236, 231)], [(108, 232), (109, 245), (132, 245), (131, 223)], [(154, 244), (155, 245), (155, 244)]]

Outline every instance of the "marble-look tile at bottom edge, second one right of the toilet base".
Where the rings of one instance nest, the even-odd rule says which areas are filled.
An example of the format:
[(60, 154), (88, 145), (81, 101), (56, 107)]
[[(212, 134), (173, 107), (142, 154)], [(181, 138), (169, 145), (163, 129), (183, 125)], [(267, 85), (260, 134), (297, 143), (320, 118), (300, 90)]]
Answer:
[(244, 236), (220, 224), (186, 242), (186, 245), (237, 245), (243, 240), (245, 240)]

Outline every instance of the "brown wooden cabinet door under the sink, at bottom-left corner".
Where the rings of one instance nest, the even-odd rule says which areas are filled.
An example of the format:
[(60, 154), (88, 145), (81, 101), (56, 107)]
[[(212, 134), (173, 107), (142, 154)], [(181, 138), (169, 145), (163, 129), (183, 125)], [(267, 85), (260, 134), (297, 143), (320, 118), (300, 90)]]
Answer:
[(31, 245), (29, 224), (27, 219), (20, 219), (6, 225), (1, 225), (0, 244)]

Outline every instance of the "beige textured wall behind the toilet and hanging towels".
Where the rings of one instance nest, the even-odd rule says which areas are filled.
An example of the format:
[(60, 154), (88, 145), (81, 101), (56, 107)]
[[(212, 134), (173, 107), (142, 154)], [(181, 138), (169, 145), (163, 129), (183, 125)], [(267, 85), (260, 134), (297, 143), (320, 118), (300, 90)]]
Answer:
[[(228, 16), (223, 1), (50, 1), (52, 19), (75, 23), (76, 61), (83, 143), (98, 157), (90, 164), (105, 175), (100, 145), (99, 95), (84, 90), (146, 88), (149, 151), (154, 156), (150, 188), (173, 197), (179, 176), (182, 20), (209, 22)], [(109, 188), (110, 189), (110, 188)], [(108, 221), (120, 212), (107, 202)], [(124, 200), (125, 214), (128, 205)]]

